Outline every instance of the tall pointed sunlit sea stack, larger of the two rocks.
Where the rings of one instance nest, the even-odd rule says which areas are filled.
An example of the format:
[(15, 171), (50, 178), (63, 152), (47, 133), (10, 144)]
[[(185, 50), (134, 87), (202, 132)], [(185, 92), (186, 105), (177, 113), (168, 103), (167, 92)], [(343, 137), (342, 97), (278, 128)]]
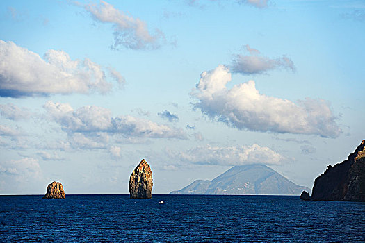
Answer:
[(150, 199), (152, 197), (152, 171), (145, 159), (141, 160), (129, 178), (131, 199)]

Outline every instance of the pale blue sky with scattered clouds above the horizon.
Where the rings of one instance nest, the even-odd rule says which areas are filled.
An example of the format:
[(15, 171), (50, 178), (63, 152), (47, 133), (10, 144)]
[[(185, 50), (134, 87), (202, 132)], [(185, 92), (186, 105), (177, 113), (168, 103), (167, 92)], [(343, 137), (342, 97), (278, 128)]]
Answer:
[(365, 2), (0, 1), (0, 194), (154, 194), (365, 140)]

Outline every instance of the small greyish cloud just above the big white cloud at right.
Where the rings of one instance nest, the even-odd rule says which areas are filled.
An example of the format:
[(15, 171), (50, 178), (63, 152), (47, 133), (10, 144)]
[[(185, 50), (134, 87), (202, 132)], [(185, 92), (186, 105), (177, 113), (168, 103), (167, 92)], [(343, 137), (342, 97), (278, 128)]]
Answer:
[(273, 69), (288, 69), (292, 72), (295, 71), (293, 61), (282, 56), (280, 58), (268, 58), (262, 56), (260, 51), (250, 47), (248, 44), (244, 46), (245, 51), (248, 54), (235, 55), (232, 61), (232, 72), (250, 75), (250, 74), (265, 74), (269, 70)]

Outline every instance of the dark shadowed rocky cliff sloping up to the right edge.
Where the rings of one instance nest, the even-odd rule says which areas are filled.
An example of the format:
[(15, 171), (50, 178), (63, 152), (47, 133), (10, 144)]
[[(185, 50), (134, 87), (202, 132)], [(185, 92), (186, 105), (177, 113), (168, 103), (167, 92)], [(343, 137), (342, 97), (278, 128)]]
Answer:
[(328, 165), (316, 178), (311, 200), (365, 201), (365, 140), (347, 160)]

